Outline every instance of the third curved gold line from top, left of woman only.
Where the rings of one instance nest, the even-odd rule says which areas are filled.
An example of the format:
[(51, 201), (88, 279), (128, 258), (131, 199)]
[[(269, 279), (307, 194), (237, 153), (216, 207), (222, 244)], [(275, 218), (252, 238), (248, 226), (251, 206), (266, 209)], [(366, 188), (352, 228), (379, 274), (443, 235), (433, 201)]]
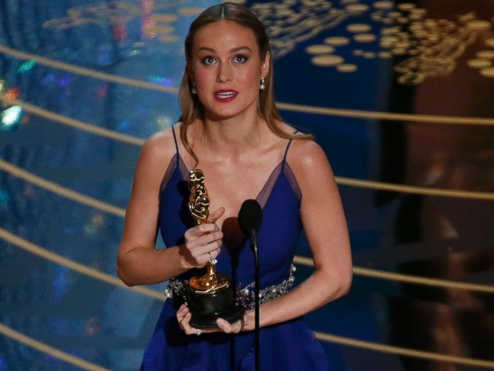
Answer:
[(41, 188), (47, 189), (53, 193), (62, 195), (64, 197), (70, 198), (74, 201), (77, 201), (79, 203), (97, 208), (102, 211), (109, 212), (111, 214), (117, 215), (117, 216), (125, 216), (125, 209), (122, 207), (114, 206), (111, 205), (107, 202), (100, 201), (96, 198), (86, 196), (82, 193), (76, 192), (74, 190), (71, 190), (69, 188), (63, 187), (61, 185), (57, 185), (53, 182), (49, 182), (44, 180), (43, 178), (40, 178), (34, 174), (31, 174), (29, 172), (26, 172), (25, 170), (22, 170), (21, 168), (12, 165), (2, 159), (0, 159), (0, 169), (12, 174), (13, 176), (17, 178), (21, 178), (29, 183), (32, 183), (34, 185), (37, 185)]

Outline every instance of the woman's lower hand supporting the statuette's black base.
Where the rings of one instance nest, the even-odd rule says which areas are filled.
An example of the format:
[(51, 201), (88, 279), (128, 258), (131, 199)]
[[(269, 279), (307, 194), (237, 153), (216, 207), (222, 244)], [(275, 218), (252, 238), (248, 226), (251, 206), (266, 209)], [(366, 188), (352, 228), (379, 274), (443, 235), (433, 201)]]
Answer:
[[(182, 306), (177, 311), (177, 320), (180, 328), (187, 335), (196, 335), (197, 329), (190, 326), (189, 322), (191, 319), (191, 313), (189, 311), (189, 307), (187, 305), (182, 304)], [(208, 329), (201, 330), (202, 334), (213, 333), (213, 332), (224, 332), (227, 334), (238, 334), (241, 331), (250, 331), (254, 329), (254, 312), (249, 311), (244, 314), (244, 316), (234, 322), (230, 323), (223, 318), (218, 318), (216, 320), (216, 324), (218, 325), (217, 329)]]

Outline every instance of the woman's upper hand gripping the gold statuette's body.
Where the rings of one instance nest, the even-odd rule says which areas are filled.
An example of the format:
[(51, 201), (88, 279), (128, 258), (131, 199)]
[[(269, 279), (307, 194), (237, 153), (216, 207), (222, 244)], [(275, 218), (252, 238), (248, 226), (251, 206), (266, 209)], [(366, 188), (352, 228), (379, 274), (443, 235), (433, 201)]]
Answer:
[[(189, 268), (202, 268), (211, 259), (220, 254), (223, 232), (214, 222), (223, 215), (224, 207), (210, 214), (209, 223), (199, 224), (185, 232), (185, 243), (180, 245), (180, 255)], [(210, 256), (211, 254), (211, 256)]]

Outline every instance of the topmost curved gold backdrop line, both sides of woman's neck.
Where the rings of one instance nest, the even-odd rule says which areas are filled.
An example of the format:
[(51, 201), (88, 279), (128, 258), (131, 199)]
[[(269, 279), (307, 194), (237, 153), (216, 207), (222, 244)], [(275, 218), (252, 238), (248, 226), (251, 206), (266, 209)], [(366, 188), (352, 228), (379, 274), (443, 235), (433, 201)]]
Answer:
[[(85, 67), (79, 67), (73, 64), (59, 62), (54, 59), (41, 57), (36, 54), (27, 53), (21, 50), (9, 48), (0, 44), (0, 52), (19, 59), (32, 59), (37, 63), (61, 69), (71, 73), (88, 76), (91, 78), (115, 82), (128, 86), (135, 86), (144, 89), (162, 91), (165, 93), (178, 93), (178, 88), (169, 88), (158, 84), (153, 84), (144, 80), (121, 77), (110, 73), (103, 73)], [(373, 120), (391, 120), (391, 121), (410, 121), (410, 122), (426, 122), (446, 125), (484, 125), (493, 126), (493, 118), (479, 117), (460, 117), (460, 116), (440, 116), (440, 115), (420, 115), (420, 114), (405, 114), (405, 113), (390, 113), (379, 111), (351, 110), (342, 108), (330, 107), (314, 107), (300, 104), (277, 102), (276, 106), (280, 110), (291, 112), (312, 113), (317, 115), (351, 117), (356, 119), (373, 119)]]

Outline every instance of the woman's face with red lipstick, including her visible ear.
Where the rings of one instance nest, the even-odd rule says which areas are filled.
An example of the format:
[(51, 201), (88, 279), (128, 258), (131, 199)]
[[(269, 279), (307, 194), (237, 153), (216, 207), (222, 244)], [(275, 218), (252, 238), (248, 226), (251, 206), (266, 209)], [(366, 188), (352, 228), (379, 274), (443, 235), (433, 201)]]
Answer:
[(206, 117), (227, 119), (256, 111), (260, 78), (268, 66), (269, 54), (260, 60), (251, 29), (224, 20), (201, 27), (192, 43), (189, 76)]

